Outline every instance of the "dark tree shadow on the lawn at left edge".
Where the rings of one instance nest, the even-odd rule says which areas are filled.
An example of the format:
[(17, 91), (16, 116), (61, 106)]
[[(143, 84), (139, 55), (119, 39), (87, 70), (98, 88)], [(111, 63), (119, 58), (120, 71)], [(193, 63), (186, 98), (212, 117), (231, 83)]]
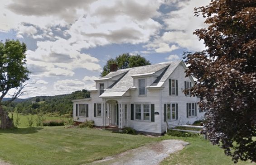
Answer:
[(13, 128), (13, 129), (0, 129), (0, 134), (14, 133), (14, 134), (31, 134), (42, 130), (43, 127), (26, 127), (26, 128)]

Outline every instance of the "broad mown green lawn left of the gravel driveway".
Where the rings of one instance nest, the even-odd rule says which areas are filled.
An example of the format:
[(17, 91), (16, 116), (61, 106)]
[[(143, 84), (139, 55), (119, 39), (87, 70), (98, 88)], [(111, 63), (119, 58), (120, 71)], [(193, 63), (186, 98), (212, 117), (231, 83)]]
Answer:
[(159, 140), (87, 128), (0, 130), (0, 159), (14, 165), (78, 165)]

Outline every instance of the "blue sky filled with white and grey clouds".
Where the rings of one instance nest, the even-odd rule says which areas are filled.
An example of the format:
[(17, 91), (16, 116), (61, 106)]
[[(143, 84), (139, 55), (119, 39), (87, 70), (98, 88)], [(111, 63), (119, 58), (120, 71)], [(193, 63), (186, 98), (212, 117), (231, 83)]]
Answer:
[[(109, 58), (140, 54), (152, 64), (203, 50), (207, 27), (193, 9), (209, 0), (0, 0), (0, 41), (27, 45), (31, 74), (20, 98), (95, 85)], [(10, 91), (12, 94), (13, 90)]]

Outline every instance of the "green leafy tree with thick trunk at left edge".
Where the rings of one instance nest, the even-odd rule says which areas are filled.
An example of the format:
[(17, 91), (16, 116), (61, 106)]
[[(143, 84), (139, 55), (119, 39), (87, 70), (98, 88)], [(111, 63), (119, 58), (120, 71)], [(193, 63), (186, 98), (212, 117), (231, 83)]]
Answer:
[(10, 95), (12, 98), (5, 102), (10, 104), (14, 99), (23, 94), (23, 83), (29, 80), (29, 71), (26, 64), (26, 45), (18, 40), (6, 40), (0, 42), (0, 128), (14, 127), (13, 121), (8, 117), (8, 113), (2, 108), (2, 99), (15, 89)]

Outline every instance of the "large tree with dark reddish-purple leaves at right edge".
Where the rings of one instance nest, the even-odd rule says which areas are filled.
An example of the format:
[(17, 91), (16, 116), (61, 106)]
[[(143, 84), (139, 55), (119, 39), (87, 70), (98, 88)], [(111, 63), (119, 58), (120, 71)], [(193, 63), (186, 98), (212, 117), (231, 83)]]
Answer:
[(255, 9), (252, 0), (212, 0), (195, 9), (209, 25), (194, 32), (206, 49), (185, 53), (186, 74), (198, 80), (191, 94), (207, 110), (208, 139), (234, 162), (256, 161)]

